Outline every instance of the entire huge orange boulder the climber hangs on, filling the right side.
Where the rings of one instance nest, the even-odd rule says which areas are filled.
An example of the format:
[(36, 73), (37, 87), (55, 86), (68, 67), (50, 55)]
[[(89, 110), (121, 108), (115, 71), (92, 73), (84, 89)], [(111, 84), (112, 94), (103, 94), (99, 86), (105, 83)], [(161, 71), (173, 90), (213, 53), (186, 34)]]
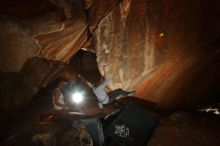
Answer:
[(162, 108), (218, 97), (219, 6), (217, 0), (122, 0), (95, 31), (97, 62), (110, 87), (135, 89)]

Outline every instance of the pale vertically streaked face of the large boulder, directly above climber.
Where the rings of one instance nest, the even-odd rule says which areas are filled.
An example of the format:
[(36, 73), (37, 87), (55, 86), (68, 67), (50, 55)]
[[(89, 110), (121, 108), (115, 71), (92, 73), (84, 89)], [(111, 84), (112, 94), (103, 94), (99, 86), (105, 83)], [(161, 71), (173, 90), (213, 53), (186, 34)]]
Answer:
[[(99, 69), (111, 79), (112, 88), (131, 90), (152, 71), (156, 50), (148, 38), (146, 1), (122, 1), (100, 22), (96, 34)], [(158, 52), (159, 54), (159, 52)]]

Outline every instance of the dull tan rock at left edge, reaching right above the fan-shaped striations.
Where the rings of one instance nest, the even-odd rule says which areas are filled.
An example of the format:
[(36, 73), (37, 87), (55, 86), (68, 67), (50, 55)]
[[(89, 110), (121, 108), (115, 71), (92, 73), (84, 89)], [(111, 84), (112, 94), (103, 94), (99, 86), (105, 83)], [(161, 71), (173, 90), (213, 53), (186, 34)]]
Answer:
[(37, 17), (22, 19), (12, 16), (0, 17), (0, 70), (19, 72), (29, 57), (38, 56), (41, 47), (33, 39), (42, 33), (60, 31), (62, 25), (54, 23), (53, 15), (46, 13)]

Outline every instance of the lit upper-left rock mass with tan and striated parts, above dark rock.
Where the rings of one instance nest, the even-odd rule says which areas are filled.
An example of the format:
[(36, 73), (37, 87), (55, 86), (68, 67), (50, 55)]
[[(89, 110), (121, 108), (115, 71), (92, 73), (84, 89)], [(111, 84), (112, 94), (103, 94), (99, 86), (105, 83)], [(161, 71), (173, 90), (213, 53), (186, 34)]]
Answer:
[[(0, 70), (19, 72), (29, 57), (67, 62), (87, 40), (84, 4), (11, 1), (0, 6)], [(19, 3), (19, 4), (18, 4)]]

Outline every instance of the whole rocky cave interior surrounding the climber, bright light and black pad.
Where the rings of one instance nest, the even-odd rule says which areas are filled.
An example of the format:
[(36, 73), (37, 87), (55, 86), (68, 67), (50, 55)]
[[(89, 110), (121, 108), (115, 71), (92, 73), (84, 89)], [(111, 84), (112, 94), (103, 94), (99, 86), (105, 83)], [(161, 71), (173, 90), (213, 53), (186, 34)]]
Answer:
[[(100, 109), (82, 83), (83, 114), (135, 102), (159, 121), (145, 145), (219, 146), (219, 8), (219, 0), (1, 0), (0, 145), (71, 145), (63, 127), (39, 123), (59, 80), (77, 74), (135, 91)], [(60, 137), (31, 139), (45, 130)]]

